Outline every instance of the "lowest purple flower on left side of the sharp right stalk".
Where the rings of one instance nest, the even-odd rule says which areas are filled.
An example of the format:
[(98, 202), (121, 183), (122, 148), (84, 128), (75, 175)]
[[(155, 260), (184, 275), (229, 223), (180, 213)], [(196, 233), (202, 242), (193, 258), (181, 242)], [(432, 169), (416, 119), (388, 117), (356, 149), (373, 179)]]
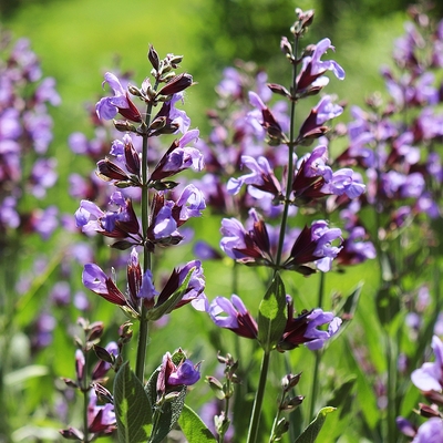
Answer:
[(208, 312), (216, 326), (230, 329), (240, 337), (257, 338), (257, 322), (237, 295), (234, 293), (230, 301), (225, 297), (216, 297)]

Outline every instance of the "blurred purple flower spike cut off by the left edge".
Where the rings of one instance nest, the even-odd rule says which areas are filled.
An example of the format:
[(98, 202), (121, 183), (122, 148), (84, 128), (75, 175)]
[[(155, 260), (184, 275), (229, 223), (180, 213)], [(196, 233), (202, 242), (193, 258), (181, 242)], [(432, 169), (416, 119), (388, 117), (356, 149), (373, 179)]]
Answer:
[(52, 141), (48, 107), (61, 100), (54, 79), (43, 78), (27, 39), (12, 43), (2, 32), (0, 51), (0, 235), (4, 241), (7, 230), (20, 228), (47, 239), (59, 225), (56, 207), (42, 208), (40, 203), (23, 210), (19, 203), (25, 194), (43, 200), (56, 183), (56, 159), (48, 156)]

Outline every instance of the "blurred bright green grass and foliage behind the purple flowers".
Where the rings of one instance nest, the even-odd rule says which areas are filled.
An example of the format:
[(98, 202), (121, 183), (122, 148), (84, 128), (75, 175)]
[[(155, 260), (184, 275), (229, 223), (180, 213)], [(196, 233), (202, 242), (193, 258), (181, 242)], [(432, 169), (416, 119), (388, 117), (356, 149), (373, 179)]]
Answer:
[[(147, 75), (148, 43), (154, 44), (161, 56), (168, 52), (185, 55), (183, 68), (198, 82), (198, 85), (187, 93), (186, 110), (193, 125), (199, 126), (204, 136), (207, 128), (205, 111), (214, 105), (216, 99), (214, 86), (220, 80), (224, 66), (231, 65), (236, 59), (253, 60), (268, 71), (271, 82), (284, 83), (288, 80), (281, 79), (281, 72), (287, 75), (287, 70), (284, 69), (285, 60), (279, 51), (279, 41), (281, 35), (288, 34), (296, 7), (316, 9), (318, 20), (312, 27), (312, 32), (308, 34), (309, 42), (316, 42), (323, 37), (331, 38), (337, 49), (333, 58), (347, 72), (343, 82), (331, 80), (329, 91), (337, 93), (340, 100), (361, 105), (367, 94), (383, 89), (383, 82), (378, 74), (379, 68), (383, 63), (389, 63), (393, 39), (402, 34), (406, 19), (405, 6), (406, 2), (400, 0), (390, 2), (382, 0), (0, 1), (0, 10), (3, 13), (2, 27), (12, 30), (16, 38), (29, 38), (32, 49), (42, 60), (44, 75), (52, 75), (58, 82), (58, 91), (63, 102), (60, 107), (52, 111), (55, 140), (51, 150), (59, 159), (60, 181), (59, 186), (51, 189), (50, 197), (68, 213), (73, 213), (78, 207), (78, 202), (68, 197), (68, 174), (73, 171), (85, 175), (90, 173), (89, 169), (85, 171), (85, 167), (90, 166), (75, 158), (69, 150), (68, 136), (74, 131), (90, 131), (84, 106), (85, 103), (95, 102), (100, 95), (103, 72), (112, 70), (117, 63), (122, 70), (133, 71), (134, 78), (140, 82)], [(442, 12), (439, 8), (443, 9), (442, 6), (437, 6), (436, 14)], [(346, 119), (344, 114), (342, 120)], [(196, 220), (194, 226), (197, 236), (205, 237), (217, 246), (218, 219), (206, 217)], [(52, 251), (55, 267), (63, 257), (63, 241), (60, 235), (51, 243), (42, 243), (35, 238), (34, 243), (28, 246), (27, 255), (17, 264), (18, 268), (29, 266), (32, 254), (41, 249)], [(167, 257), (166, 259), (175, 265), (190, 257), (189, 248), (183, 248), (174, 251), (174, 261)], [(230, 295), (231, 269), (228, 265), (208, 262), (205, 265), (205, 271), (206, 292), (209, 299), (217, 295), (225, 297)], [(79, 267), (79, 281), (73, 284), (78, 288), (81, 287), (80, 275)], [(48, 281), (55, 277), (50, 272), (41, 276), (34, 284), (34, 291), (21, 303), (18, 322), (24, 331), (34, 312), (42, 302), (44, 303)], [(255, 271), (243, 269), (239, 278), (241, 297), (251, 303), (262, 297), (264, 289)], [(340, 290), (343, 295), (349, 295), (361, 280), (364, 281), (364, 287), (354, 323), (371, 329), (371, 316), (374, 312), (372, 296), (377, 289), (372, 285), (378, 281), (378, 270), (372, 264), (353, 268), (344, 277), (328, 275), (326, 293)], [(293, 281), (286, 281), (286, 289), (298, 300), (299, 307), (303, 308), (316, 302), (318, 285), (318, 276), (309, 279), (296, 276)], [(106, 323), (120, 316), (114, 307), (104, 301), (94, 302), (95, 318), (91, 320), (102, 320)], [(257, 367), (258, 362), (255, 361), (256, 356), (249, 343), (239, 346), (231, 334), (225, 333), (227, 331), (222, 333), (215, 330), (205, 316), (186, 308), (173, 316), (174, 319), (168, 326), (158, 334), (157, 332), (153, 334), (148, 348), (152, 369), (158, 364), (166, 350), (173, 351), (179, 346), (192, 351), (195, 361), (205, 360), (203, 365), (205, 374), (209, 374), (215, 368), (215, 354), (218, 349), (236, 354), (244, 362), (245, 369)], [(27, 433), (37, 435), (35, 433), (43, 433), (42, 429), (45, 426), (48, 429), (56, 426), (56, 423), (45, 418), (44, 403), (51, 401), (48, 393), (53, 390), (54, 379), (61, 375), (74, 377), (72, 339), (62, 326), (68, 321), (74, 322), (75, 312), (64, 312), (58, 320), (61, 327), (55, 330), (54, 346), (37, 361), (38, 364), (49, 368), (47, 372), (31, 373), (23, 378), (24, 381), (12, 383), (17, 387), (17, 394), (24, 405), (17, 408), (17, 415), (11, 416), (14, 429), (21, 432), (19, 435), (16, 434), (16, 437), (21, 436), (25, 440)], [(121, 320), (124, 320), (122, 316)], [(351, 328), (358, 327), (351, 326)], [(349, 331), (346, 333), (352, 333)], [(109, 331), (109, 338), (110, 340), (113, 338), (113, 331)], [(25, 341), (25, 333), (19, 339)], [(135, 347), (135, 343), (133, 346)], [(377, 333), (368, 337), (371, 356), (377, 356), (379, 346)], [(18, 361), (25, 360), (25, 356), (20, 356), (20, 349), (22, 348), (17, 348)], [(253, 356), (251, 361), (245, 361), (250, 356)], [(309, 368), (312, 361), (311, 356), (306, 352), (290, 353), (290, 364), (298, 371), (303, 371), (299, 388), (303, 394), (309, 393), (307, 392)], [(339, 367), (338, 361), (340, 361)], [(272, 360), (271, 373), (276, 375), (269, 382), (275, 389), (279, 384), (279, 377), (285, 373), (286, 363), (284, 356), (277, 356)], [(382, 356), (379, 361), (373, 361), (373, 364), (383, 368)], [(337, 340), (328, 349), (323, 370), (326, 373), (322, 380), (323, 387), (327, 390), (336, 390), (336, 396), (343, 396), (343, 392), (339, 392), (340, 388), (346, 387), (349, 374), (356, 374), (357, 371), (346, 340)], [(357, 373), (357, 377), (364, 378), (364, 374)], [(334, 385), (336, 380), (340, 380), (340, 385)], [(256, 380), (250, 380), (249, 383), (254, 385)], [(265, 402), (267, 409), (274, 409), (275, 396), (276, 391), (271, 390)], [(361, 413), (368, 416), (378, 414), (373, 393), (363, 391), (354, 396), (356, 402), (352, 404), (351, 413), (330, 414), (326, 425), (327, 431), (322, 431), (320, 441), (356, 442), (357, 430), (350, 426), (352, 416)], [(189, 394), (189, 401), (194, 403), (195, 409), (209, 398), (210, 393), (204, 389), (200, 395), (193, 395), (193, 392)], [(343, 398), (340, 401), (343, 401)], [(405, 405), (405, 415), (414, 403), (415, 398), (411, 398)], [(350, 408), (350, 404), (348, 406)], [(264, 423), (264, 426), (269, 425), (270, 423)]]

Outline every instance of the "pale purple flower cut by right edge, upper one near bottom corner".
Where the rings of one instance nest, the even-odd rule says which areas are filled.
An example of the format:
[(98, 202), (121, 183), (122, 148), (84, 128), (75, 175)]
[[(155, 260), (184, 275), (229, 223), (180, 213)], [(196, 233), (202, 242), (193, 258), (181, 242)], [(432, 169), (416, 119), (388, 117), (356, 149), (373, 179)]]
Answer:
[(432, 349), (435, 362), (426, 362), (420, 369), (411, 373), (412, 383), (421, 391), (441, 392), (443, 388), (443, 343), (439, 337), (432, 338)]

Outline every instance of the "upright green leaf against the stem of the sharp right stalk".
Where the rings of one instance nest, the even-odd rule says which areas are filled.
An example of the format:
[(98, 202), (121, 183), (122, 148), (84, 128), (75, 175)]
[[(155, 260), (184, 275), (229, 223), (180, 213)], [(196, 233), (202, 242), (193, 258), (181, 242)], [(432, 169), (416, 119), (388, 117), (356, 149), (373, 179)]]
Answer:
[(280, 274), (276, 272), (258, 307), (258, 340), (266, 352), (280, 341), (287, 319), (285, 285)]

